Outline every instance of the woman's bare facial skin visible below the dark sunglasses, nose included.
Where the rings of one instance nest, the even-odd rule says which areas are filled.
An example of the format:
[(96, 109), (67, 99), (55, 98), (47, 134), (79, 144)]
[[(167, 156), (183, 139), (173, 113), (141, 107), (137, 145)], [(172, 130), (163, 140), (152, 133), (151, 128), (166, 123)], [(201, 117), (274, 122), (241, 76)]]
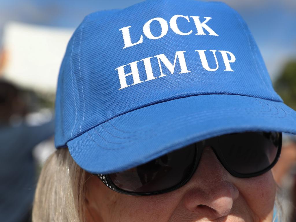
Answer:
[(86, 181), (88, 222), (271, 222), (276, 184), (271, 171), (236, 178), (210, 147), (190, 181), (165, 194), (130, 196), (107, 188), (96, 176)]

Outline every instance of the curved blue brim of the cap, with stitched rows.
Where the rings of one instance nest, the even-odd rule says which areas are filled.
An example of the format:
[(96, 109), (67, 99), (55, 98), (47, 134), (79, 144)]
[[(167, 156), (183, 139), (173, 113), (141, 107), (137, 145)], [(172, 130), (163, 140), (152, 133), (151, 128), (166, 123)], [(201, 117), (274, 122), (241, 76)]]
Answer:
[(120, 115), (67, 146), (86, 171), (113, 173), (203, 139), (243, 131), (296, 134), (296, 112), (282, 102), (248, 96), (189, 96)]

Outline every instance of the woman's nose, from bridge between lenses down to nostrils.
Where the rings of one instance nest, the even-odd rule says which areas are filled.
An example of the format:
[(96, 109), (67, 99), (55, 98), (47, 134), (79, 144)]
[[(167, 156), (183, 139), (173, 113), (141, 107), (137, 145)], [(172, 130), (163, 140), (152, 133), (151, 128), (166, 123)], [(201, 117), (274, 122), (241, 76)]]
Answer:
[(183, 203), (199, 218), (215, 220), (231, 212), (239, 191), (211, 147), (205, 147), (197, 170), (186, 184)]

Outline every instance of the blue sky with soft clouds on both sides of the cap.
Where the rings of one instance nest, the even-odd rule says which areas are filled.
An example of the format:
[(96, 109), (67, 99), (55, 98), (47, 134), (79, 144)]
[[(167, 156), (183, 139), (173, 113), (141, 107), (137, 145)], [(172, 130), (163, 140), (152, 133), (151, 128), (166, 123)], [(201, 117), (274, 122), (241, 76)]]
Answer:
[[(0, 0), (1, 28), (7, 21), (75, 28), (91, 12), (125, 8), (141, 0)], [(274, 79), (296, 58), (295, 0), (224, 0), (247, 22)]]

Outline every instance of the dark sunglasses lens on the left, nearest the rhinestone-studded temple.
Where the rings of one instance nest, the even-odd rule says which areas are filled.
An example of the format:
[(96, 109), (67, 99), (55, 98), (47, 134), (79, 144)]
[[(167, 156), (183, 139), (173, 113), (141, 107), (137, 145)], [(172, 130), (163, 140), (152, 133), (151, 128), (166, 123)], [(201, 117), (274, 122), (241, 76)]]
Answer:
[(156, 158), (129, 170), (109, 174), (113, 184), (127, 192), (152, 193), (176, 187), (192, 172), (195, 145)]

